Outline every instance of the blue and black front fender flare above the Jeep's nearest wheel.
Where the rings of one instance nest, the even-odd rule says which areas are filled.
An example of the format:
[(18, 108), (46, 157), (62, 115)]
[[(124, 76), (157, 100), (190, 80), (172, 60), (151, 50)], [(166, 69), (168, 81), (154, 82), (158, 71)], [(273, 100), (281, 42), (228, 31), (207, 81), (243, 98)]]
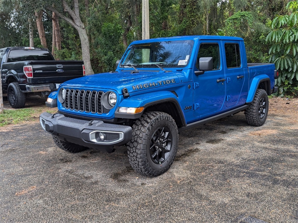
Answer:
[[(142, 116), (146, 108), (165, 102), (171, 102), (174, 104), (181, 119), (182, 125), (186, 126), (184, 113), (182, 112), (180, 103), (177, 100), (177, 97), (169, 91), (150, 92), (125, 98), (119, 103), (115, 112), (115, 118), (137, 119)], [(144, 107), (144, 110), (137, 114), (126, 114), (119, 112), (119, 107)]]

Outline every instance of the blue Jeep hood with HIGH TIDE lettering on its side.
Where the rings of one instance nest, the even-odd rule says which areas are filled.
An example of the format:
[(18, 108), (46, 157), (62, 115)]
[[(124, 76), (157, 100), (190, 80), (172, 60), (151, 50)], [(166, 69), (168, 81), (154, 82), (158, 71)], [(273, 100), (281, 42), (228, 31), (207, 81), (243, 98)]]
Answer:
[(140, 71), (131, 73), (119, 71), (114, 73), (98, 73), (72, 79), (61, 86), (72, 88), (113, 89), (122, 94), (125, 87), (128, 92), (136, 92), (147, 88), (162, 87), (164, 85), (178, 84), (179, 76), (176, 72)]

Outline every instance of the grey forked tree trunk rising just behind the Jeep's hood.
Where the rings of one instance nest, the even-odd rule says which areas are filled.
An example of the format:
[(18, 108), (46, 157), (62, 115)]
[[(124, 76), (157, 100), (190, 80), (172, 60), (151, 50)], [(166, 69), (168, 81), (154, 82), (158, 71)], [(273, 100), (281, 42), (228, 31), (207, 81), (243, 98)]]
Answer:
[[(94, 71), (91, 67), (91, 60), (90, 60), (90, 45), (88, 35), (85, 29), (85, 25), (80, 18), (80, 10), (79, 10), (79, 1), (73, 0), (73, 10), (67, 4), (66, 0), (62, 0), (62, 7), (63, 11), (66, 12), (67, 15), (62, 14), (55, 8), (49, 6), (47, 7), (48, 10), (55, 12), (55, 14), (59, 15), (63, 20), (68, 22), (71, 26), (73, 26), (77, 32), (79, 33), (79, 37), (81, 40), (81, 47), (82, 47), (82, 57), (85, 65), (86, 75), (94, 74)], [(57, 36), (56, 36), (57, 41)]]

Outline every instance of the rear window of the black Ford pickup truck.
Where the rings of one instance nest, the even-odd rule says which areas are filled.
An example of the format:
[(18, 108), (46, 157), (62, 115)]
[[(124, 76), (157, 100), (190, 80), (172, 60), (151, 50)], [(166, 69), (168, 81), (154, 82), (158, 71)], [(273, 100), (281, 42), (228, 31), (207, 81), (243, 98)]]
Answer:
[(7, 62), (27, 60), (53, 60), (48, 51), (43, 50), (11, 50)]

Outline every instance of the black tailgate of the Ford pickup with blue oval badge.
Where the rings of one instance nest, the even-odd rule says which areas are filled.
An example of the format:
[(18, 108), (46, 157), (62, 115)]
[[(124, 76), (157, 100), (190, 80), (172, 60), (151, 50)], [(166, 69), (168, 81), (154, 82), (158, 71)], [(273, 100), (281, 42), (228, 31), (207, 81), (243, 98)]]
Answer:
[(83, 76), (82, 60), (40, 60), (30, 64), (33, 70), (31, 84), (63, 83)]

